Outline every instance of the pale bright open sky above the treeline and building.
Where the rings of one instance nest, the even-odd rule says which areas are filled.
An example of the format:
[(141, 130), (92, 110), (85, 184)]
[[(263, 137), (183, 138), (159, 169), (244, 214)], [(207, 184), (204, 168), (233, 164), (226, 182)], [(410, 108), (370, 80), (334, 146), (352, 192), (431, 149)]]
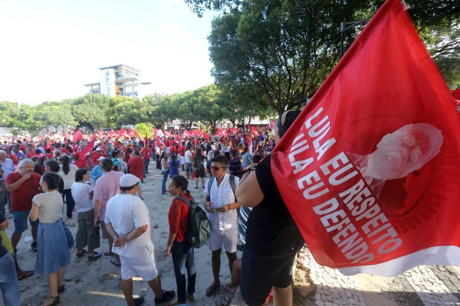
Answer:
[(213, 14), (182, 0), (3, 0), (0, 101), (74, 98), (117, 64), (141, 69), (153, 92), (211, 84)]

